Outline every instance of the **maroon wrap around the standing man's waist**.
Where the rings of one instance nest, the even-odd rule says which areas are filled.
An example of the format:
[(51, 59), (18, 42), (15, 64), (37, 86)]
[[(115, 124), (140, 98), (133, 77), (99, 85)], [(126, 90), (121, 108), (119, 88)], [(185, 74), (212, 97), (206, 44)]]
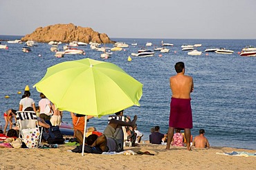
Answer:
[(169, 127), (192, 129), (191, 98), (172, 98)]

